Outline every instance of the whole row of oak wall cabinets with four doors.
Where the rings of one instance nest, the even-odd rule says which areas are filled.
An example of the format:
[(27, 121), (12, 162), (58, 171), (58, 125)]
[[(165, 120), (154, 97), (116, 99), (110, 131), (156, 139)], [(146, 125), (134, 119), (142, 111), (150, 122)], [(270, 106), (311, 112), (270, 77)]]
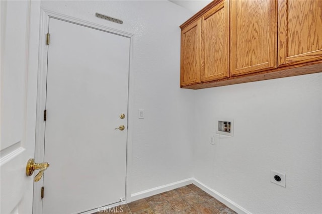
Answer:
[(180, 28), (183, 88), (322, 72), (322, 0), (214, 0)]

